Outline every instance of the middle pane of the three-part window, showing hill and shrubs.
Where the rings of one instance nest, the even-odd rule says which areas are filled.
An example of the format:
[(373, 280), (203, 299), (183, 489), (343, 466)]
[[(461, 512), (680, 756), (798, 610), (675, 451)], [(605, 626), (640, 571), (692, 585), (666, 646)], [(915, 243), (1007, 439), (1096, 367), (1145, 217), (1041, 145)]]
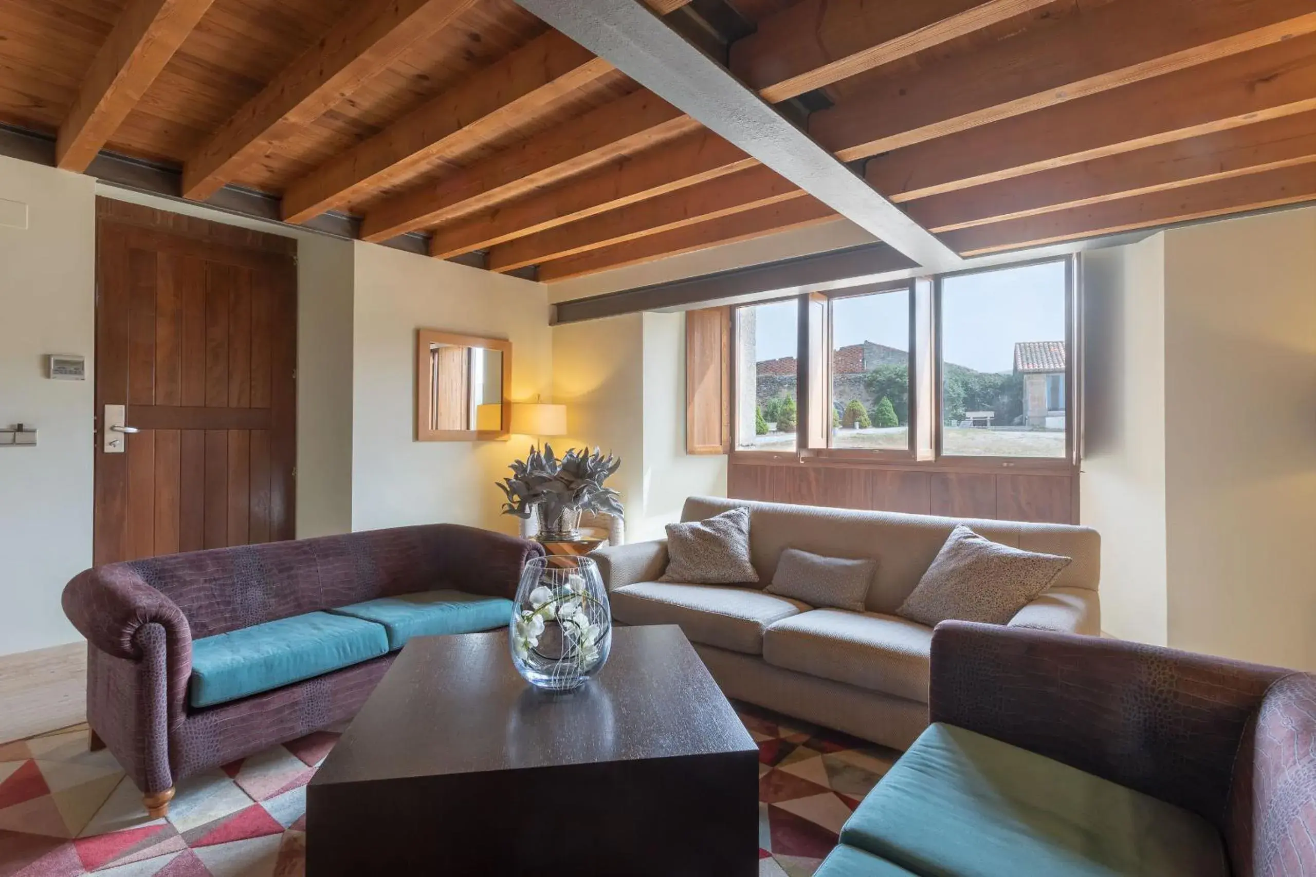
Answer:
[(909, 447), (909, 292), (832, 301), (832, 447)]

